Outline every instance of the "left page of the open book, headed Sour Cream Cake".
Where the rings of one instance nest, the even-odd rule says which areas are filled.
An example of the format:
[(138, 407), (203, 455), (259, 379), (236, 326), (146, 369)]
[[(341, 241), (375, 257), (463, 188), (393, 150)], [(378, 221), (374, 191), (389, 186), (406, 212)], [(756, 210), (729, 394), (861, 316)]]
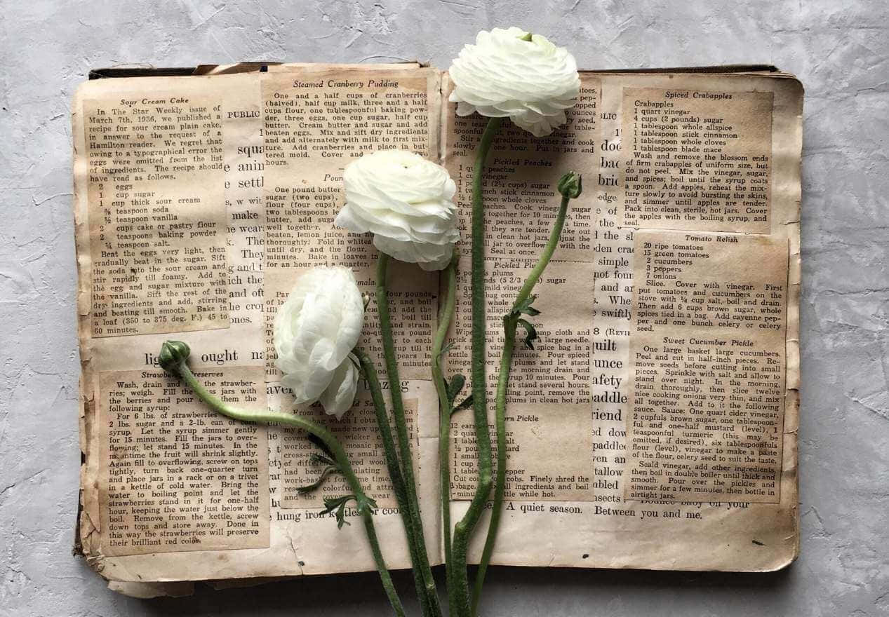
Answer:
[[(229, 421), (157, 366), (185, 341), (208, 390), (237, 407), (292, 408), (270, 323), (298, 275), (346, 265), (372, 296), (370, 239), (334, 228), (342, 170), (380, 147), (438, 157), (440, 75), (415, 64), (308, 65), (85, 83), (73, 108), (82, 360), (80, 548), (118, 589), (151, 581), (372, 570), (354, 508), (338, 529), (305, 433)], [(392, 313), (430, 558), (436, 392), (428, 347), (437, 276), (395, 265)], [(359, 344), (381, 361), (376, 305)], [(388, 390), (389, 384), (384, 388)], [(340, 436), (367, 493), (388, 566), (410, 566), (369, 393)], [(428, 504), (428, 505), (426, 505)], [(133, 588), (135, 589), (135, 588)]]

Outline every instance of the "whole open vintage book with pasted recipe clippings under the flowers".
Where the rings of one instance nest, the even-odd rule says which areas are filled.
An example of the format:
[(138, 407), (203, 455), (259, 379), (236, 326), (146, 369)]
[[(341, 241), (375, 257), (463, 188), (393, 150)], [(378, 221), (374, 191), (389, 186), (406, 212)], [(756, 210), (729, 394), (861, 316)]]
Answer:
[[(467, 237), (485, 118), (456, 116), (447, 75), (418, 64), (91, 76), (73, 103), (77, 549), (133, 595), (372, 569), (362, 526), (319, 514), (344, 484), (297, 493), (319, 471), (305, 436), (215, 415), (156, 353), (183, 340), (223, 399), (290, 407), (270, 323), (297, 274), (348, 265), (373, 293), (370, 237), (332, 225), (343, 167), (396, 147), (443, 162)], [(773, 67), (583, 72), (552, 136), (504, 125), (485, 180), (492, 390), (500, 318), (546, 241), (557, 178), (580, 171), (584, 192), (536, 289), (540, 340), (514, 360), (493, 563), (769, 571), (796, 557), (802, 105)], [(463, 250), (446, 374), (469, 374)], [(399, 264), (392, 280), (396, 387), (441, 563), (438, 274)], [(371, 303), (361, 344), (379, 358), (377, 331)], [(380, 504), (388, 565), (409, 567), (369, 396), (340, 422), (311, 413)], [(473, 441), (471, 411), (458, 412), (455, 519), (475, 486)]]

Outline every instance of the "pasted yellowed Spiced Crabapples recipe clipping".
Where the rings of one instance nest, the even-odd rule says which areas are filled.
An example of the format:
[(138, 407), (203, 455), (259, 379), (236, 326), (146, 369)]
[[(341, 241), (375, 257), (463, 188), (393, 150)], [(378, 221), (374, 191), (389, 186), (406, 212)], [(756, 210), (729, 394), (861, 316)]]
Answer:
[(624, 88), (621, 120), (624, 226), (769, 233), (772, 92)]

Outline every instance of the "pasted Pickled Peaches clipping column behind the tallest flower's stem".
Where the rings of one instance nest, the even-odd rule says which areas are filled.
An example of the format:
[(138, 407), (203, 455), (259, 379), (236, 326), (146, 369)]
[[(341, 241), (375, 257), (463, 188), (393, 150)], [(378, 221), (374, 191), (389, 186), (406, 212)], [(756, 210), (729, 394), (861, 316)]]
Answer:
[[(581, 97), (568, 113), (567, 128), (548, 138), (534, 138), (504, 122), (489, 154), (485, 174), (485, 289), (492, 431), (502, 316), (509, 312), (549, 237), (558, 207), (553, 197), (558, 178), (569, 169), (581, 172), (587, 183), (596, 177), (599, 165), (593, 153), (597, 149), (599, 88), (597, 76), (584, 75)], [(478, 115), (461, 118), (453, 114), (453, 107), (447, 108), (443, 126), (445, 165), (457, 183), (461, 226), (464, 238), (468, 238), (474, 153), (487, 119)], [(582, 502), (593, 498), (591, 471), (575, 463), (588, 457), (593, 442), (586, 385), (596, 258), (594, 203), (589, 199), (573, 202), (562, 242), (535, 290), (540, 299), (534, 306), (542, 312), (541, 319), (535, 320), (540, 338), (534, 342), (534, 350), (517, 352), (513, 360), (512, 383), (517, 386), (509, 393), (507, 414), (509, 498), (528, 502)], [(447, 356), (450, 370), (467, 377), (471, 348), (469, 270), (469, 256), (461, 258), (453, 347)], [(471, 499), (477, 483), (473, 426), (471, 409), (453, 415), (451, 491), (455, 500)], [(459, 503), (455, 515), (455, 520), (462, 516)], [(483, 519), (479, 528), (484, 525)]]

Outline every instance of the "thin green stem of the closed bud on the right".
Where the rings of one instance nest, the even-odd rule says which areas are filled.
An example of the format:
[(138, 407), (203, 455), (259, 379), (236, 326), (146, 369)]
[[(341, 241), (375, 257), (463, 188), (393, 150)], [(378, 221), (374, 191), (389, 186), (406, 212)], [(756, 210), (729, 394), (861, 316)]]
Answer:
[(481, 597), (482, 585), (485, 583), (485, 573), (488, 565), (491, 563), (491, 554), (494, 550), (494, 543), (497, 541), (497, 530), (500, 526), (501, 512), (503, 510), (503, 493), (506, 486), (506, 393), (509, 387), (509, 368), (512, 364), (512, 353), (516, 347), (516, 330), (520, 315), (517, 314), (517, 307), (522, 305), (534, 289), (534, 285), (541, 280), (544, 269), (549, 264), (553, 253), (558, 246), (559, 236), (562, 234), (562, 228), (565, 226), (565, 215), (568, 212), (568, 197), (562, 197), (562, 203), (559, 205), (556, 223), (553, 225), (552, 231), (549, 233), (549, 241), (543, 248), (541, 257), (537, 260), (533, 270), (528, 274), (522, 289), (519, 289), (516, 301), (513, 303), (513, 310), (503, 316), (503, 352), (501, 354), (500, 373), (497, 377), (497, 399), (495, 402), (495, 423), (497, 427), (497, 476), (494, 479), (494, 498), (493, 510), (491, 510), (491, 525), (488, 526), (488, 536), (485, 539), (485, 550), (482, 552), (482, 559), (478, 563), (478, 571), (476, 573), (476, 583), (472, 591), (472, 615), (475, 617), (478, 610), (478, 600)]

